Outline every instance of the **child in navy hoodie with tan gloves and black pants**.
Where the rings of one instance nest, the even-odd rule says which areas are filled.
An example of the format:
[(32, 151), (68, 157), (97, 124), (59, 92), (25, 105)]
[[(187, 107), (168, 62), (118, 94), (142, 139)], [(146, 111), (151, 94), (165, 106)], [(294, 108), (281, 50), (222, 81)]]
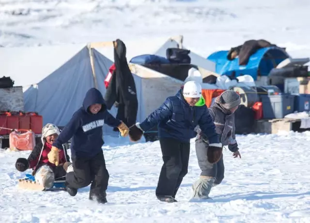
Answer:
[[(91, 184), (89, 199), (96, 199), (103, 204), (107, 202), (106, 190), (109, 181), (101, 148), (104, 144), (102, 139), (104, 123), (110, 127), (118, 127), (123, 137), (128, 135), (128, 127), (108, 112), (102, 94), (97, 89), (91, 88), (86, 93), (83, 106), (73, 114), (48, 154), (49, 162), (57, 166), (62, 144), (72, 138), (72, 165), (67, 169), (66, 190), (71, 196), (75, 196), (79, 188)], [(71, 167), (72, 171), (69, 170)]]

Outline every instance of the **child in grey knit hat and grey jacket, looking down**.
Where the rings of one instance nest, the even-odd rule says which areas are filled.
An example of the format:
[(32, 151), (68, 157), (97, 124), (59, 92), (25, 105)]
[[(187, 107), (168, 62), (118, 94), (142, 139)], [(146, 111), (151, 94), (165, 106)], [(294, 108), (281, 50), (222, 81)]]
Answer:
[[(234, 112), (240, 102), (240, 96), (236, 92), (227, 90), (218, 96), (214, 105), (209, 108), (220, 142), (222, 146), (228, 145), (228, 149), (233, 152), (234, 158), (238, 156), (241, 158), (234, 135)], [(224, 178), (223, 155), (216, 163), (210, 163), (207, 156), (208, 138), (201, 132), (199, 126), (195, 130), (198, 133), (195, 142), (196, 155), (202, 173), (192, 185), (194, 191), (192, 198), (209, 199), (211, 188), (220, 184)]]

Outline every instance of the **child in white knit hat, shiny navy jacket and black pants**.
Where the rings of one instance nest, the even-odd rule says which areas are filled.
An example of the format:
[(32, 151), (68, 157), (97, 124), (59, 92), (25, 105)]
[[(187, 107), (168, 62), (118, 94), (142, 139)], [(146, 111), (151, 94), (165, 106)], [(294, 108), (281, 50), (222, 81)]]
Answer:
[(176, 202), (175, 195), (187, 174), (190, 139), (196, 136), (199, 125), (210, 139), (210, 148), (220, 151), (221, 144), (215, 125), (202, 97), (202, 87), (196, 81), (188, 81), (184, 88), (151, 113), (143, 122), (129, 128), (129, 137), (137, 142), (144, 131), (158, 125), (158, 137), (163, 166), (156, 188), (156, 197), (163, 202)]

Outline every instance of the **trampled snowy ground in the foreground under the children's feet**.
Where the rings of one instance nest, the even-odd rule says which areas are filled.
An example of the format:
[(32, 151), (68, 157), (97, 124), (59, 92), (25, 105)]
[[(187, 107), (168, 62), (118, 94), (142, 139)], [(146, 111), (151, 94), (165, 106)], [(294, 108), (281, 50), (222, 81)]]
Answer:
[[(110, 173), (109, 204), (88, 201), (89, 187), (76, 197), (66, 192), (16, 188), (18, 157), (0, 152), (0, 216), (7, 223), (308, 223), (310, 220), (310, 132), (238, 136), (242, 159), (224, 150), (225, 178), (211, 192), (213, 201), (189, 203), (191, 184), (200, 175), (194, 143), (178, 203), (161, 203), (155, 188), (162, 165), (159, 143), (104, 146)], [(113, 156), (114, 155), (114, 156)]]

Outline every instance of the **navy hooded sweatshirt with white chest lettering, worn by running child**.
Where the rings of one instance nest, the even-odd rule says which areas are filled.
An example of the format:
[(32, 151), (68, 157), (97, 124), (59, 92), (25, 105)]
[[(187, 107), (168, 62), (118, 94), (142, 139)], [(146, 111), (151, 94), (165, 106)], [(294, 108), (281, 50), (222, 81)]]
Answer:
[[(101, 104), (102, 108), (97, 114), (89, 111), (93, 104)], [(71, 156), (92, 158), (102, 150), (104, 124), (110, 127), (118, 127), (121, 121), (114, 118), (107, 110), (102, 94), (95, 88), (86, 93), (83, 106), (75, 112), (69, 123), (53, 143), (53, 146), (62, 148), (62, 144), (68, 142), (71, 137)]]

